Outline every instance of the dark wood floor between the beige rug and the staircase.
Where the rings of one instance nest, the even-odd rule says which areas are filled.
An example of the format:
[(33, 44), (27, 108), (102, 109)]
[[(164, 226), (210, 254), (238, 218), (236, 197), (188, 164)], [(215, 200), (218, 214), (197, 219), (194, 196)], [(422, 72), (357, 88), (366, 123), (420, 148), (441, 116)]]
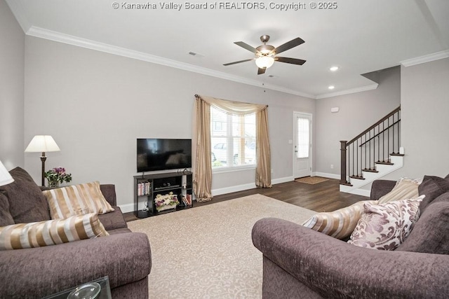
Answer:
[[(299, 183), (297, 181), (278, 183), (273, 185), (273, 188), (253, 188), (250, 190), (217, 195), (209, 202), (194, 202), (194, 207), (201, 207), (206, 204), (214, 204), (216, 202), (232, 200), (234, 198), (257, 193), (314, 211), (335, 211), (336, 209), (341, 209), (342, 207), (347, 207), (360, 200), (367, 199), (367, 197), (361, 195), (340, 192), (338, 182), (337, 179), (329, 179), (328, 181), (323, 181), (314, 185)], [(126, 221), (133, 221), (136, 219), (133, 212), (125, 213), (124, 216)]]

